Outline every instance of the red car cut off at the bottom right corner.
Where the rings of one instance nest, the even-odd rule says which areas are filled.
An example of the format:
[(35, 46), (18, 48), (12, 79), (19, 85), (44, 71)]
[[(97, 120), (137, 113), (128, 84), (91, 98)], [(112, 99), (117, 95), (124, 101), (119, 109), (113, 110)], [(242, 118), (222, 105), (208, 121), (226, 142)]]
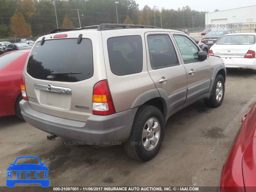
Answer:
[(223, 166), (220, 192), (256, 192), (256, 104), (242, 122)]

